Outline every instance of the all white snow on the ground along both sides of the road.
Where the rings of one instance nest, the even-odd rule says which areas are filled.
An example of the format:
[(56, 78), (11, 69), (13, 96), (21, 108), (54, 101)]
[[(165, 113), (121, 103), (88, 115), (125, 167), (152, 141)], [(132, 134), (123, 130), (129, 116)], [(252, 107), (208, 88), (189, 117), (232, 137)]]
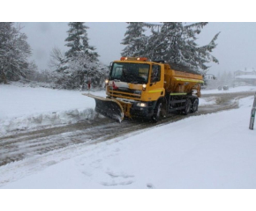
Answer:
[[(230, 92), (248, 90), (256, 91), (256, 87), (237, 87)], [(224, 91), (202, 91), (220, 92)], [(104, 96), (104, 91), (95, 94)], [(79, 91), (0, 84), (0, 96), (0, 132), (4, 135), (11, 128), (94, 118), (94, 100)], [(200, 106), (213, 103), (200, 99)], [(47, 168), (31, 161), (31, 168), (36, 165), (33, 174), (26, 174), (24, 161), (4, 165), (0, 167), (4, 184), (0, 188), (255, 189), (256, 130), (248, 128), (252, 103), (253, 97), (243, 98), (239, 109), (189, 117), (89, 147), (78, 146), (69, 159), (53, 154), (59, 156), (59, 163), (51, 163), (49, 156)], [(56, 121), (50, 119), (50, 113), (56, 114)], [(34, 120), (39, 116), (39, 121)]]

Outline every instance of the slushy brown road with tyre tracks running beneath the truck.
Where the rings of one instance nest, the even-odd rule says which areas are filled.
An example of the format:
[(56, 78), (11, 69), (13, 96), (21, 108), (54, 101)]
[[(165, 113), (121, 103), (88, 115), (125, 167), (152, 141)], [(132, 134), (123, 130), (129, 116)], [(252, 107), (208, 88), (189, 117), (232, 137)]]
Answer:
[[(208, 95), (205, 100), (214, 100), (214, 104), (200, 106), (200, 111), (193, 115), (216, 113), (219, 111), (237, 107), (237, 98), (251, 95), (249, 92), (230, 93), (214, 97)], [(236, 98), (236, 100), (234, 100)], [(96, 142), (108, 141), (111, 138), (124, 136), (126, 134), (141, 131), (156, 125), (168, 124), (177, 120), (183, 120), (187, 116), (171, 114), (168, 119), (154, 124), (152, 122), (141, 122), (139, 120), (124, 120), (122, 124), (104, 117), (94, 117), (94, 120), (84, 120), (76, 124), (65, 126), (41, 128), (32, 131), (23, 131), (16, 135), (0, 137), (0, 166), (17, 162), (22, 159), (41, 156), (42, 154), (58, 149), (58, 152), (67, 150), (77, 144), (94, 144)], [(56, 163), (56, 161), (52, 161)], [(0, 181), (1, 185), (1, 181)]]

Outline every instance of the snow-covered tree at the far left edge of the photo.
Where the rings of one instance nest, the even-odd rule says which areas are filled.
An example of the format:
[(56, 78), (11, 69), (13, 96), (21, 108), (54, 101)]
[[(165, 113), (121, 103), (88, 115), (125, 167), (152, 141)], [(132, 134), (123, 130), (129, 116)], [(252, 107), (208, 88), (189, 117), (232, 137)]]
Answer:
[(26, 42), (26, 34), (20, 32), (21, 27), (13, 23), (0, 23), (0, 82), (26, 78), (30, 73), (28, 58), (31, 48)]

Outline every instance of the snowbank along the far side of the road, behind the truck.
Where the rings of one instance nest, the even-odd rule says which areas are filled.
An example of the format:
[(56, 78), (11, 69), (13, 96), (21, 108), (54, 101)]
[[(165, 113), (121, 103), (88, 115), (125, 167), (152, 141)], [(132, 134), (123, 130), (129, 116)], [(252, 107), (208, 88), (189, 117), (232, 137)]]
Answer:
[[(256, 91), (256, 87), (236, 87), (229, 91), (202, 91), (203, 94)], [(41, 88), (34, 84), (0, 84), (0, 135), (17, 131), (53, 127), (93, 120), (94, 98), (83, 96), (87, 91), (65, 91)], [(105, 96), (105, 91), (94, 91)], [(215, 97), (200, 98), (200, 106), (215, 104)]]

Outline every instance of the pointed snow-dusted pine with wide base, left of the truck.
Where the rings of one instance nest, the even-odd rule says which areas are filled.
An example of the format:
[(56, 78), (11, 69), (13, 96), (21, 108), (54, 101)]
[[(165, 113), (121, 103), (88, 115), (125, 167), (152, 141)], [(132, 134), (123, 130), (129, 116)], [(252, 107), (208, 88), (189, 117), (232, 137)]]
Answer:
[(57, 86), (65, 89), (86, 89), (88, 81), (94, 88), (101, 87), (105, 80), (106, 66), (98, 60), (95, 48), (89, 45), (88, 27), (83, 22), (69, 23), (68, 37), (65, 46), (69, 50), (64, 53), (53, 48), (49, 65), (56, 70)]

